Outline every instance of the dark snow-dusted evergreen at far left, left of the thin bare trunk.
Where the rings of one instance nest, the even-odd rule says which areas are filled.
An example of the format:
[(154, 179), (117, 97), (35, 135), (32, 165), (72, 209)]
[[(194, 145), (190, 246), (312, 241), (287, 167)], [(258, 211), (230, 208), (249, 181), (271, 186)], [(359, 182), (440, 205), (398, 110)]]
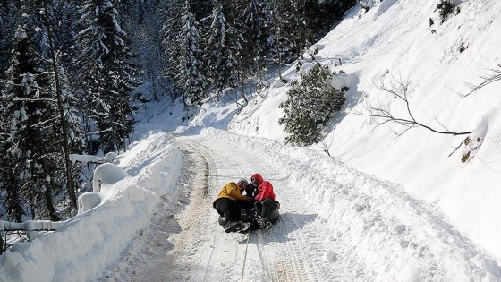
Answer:
[[(32, 209), (31, 217), (58, 220), (53, 195), (60, 192), (61, 154), (54, 146), (57, 129), (54, 91), (42, 67), (41, 58), (33, 52), (30, 37), (18, 27), (14, 38), (12, 64), (7, 71), (5, 121), (7, 158), (12, 158), (12, 173), (19, 175), (17, 187)], [(15, 188), (12, 188), (15, 189)], [(15, 196), (12, 196), (15, 199)]]

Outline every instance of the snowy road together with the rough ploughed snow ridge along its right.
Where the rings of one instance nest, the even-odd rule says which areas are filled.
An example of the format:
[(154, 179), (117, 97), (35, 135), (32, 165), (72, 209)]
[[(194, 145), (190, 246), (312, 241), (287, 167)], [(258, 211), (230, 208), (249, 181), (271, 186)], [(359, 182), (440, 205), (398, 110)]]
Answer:
[[(177, 203), (165, 197), (105, 281), (499, 281), (496, 262), (433, 207), (334, 158), (219, 131), (177, 141)], [(281, 218), (226, 234), (212, 201), (253, 173), (274, 184)]]

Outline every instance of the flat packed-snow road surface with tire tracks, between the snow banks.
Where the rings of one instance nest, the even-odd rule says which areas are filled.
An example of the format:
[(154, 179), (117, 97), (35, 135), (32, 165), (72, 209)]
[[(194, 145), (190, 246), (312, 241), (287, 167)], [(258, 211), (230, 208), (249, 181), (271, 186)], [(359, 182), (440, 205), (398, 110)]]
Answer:
[[(149, 254), (129, 257), (125, 262), (132, 264), (129, 271), (118, 271), (114, 281), (233, 282), (241, 281), (242, 275), (245, 282), (356, 280), (343, 272), (350, 266), (346, 263), (356, 262), (349, 253), (339, 252), (338, 261), (318, 260), (326, 252), (322, 244), (329, 231), (317, 234), (321, 223), (316, 220), (316, 207), (305, 205), (303, 192), (286, 186), (288, 175), (277, 173), (276, 164), (203, 136), (178, 138), (178, 144), (185, 153), (183, 176), (176, 188), (185, 193), (182, 201), (173, 205), (174, 199), (169, 203), (171, 197), (166, 196), (163, 209), (154, 218), (157, 222), (141, 239), (151, 238), (155, 244), (135, 243), (149, 245)], [(274, 184), (283, 208), (279, 222), (269, 232), (250, 234), (242, 269), (247, 236), (226, 234), (217, 224), (212, 201), (227, 182), (256, 172)], [(132, 275), (127, 277), (127, 273)]]

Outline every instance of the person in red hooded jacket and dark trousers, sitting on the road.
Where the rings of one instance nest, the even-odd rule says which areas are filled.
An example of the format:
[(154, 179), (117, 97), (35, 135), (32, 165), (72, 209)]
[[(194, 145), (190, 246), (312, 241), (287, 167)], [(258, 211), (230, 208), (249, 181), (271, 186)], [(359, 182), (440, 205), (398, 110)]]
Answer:
[(263, 176), (259, 174), (252, 175), (250, 182), (256, 187), (254, 207), (257, 214), (254, 215), (254, 218), (261, 228), (267, 229), (271, 226), (271, 223), (267, 220), (269, 212), (271, 209), (276, 209), (273, 185), (269, 181), (265, 181)]

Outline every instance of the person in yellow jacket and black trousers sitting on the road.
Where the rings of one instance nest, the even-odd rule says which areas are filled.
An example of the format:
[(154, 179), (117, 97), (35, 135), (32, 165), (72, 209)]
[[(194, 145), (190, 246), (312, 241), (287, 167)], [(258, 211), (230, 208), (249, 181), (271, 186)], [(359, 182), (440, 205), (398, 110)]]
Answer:
[(251, 199), (242, 195), (247, 184), (248, 182), (245, 179), (240, 179), (237, 183), (225, 184), (216, 200), (212, 203), (212, 207), (216, 209), (217, 213), (225, 218), (226, 233), (245, 232), (250, 228), (248, 222), (242, 222), (240, 219), (241, 210), (247, 208), (249, 204), (251, 205)]

